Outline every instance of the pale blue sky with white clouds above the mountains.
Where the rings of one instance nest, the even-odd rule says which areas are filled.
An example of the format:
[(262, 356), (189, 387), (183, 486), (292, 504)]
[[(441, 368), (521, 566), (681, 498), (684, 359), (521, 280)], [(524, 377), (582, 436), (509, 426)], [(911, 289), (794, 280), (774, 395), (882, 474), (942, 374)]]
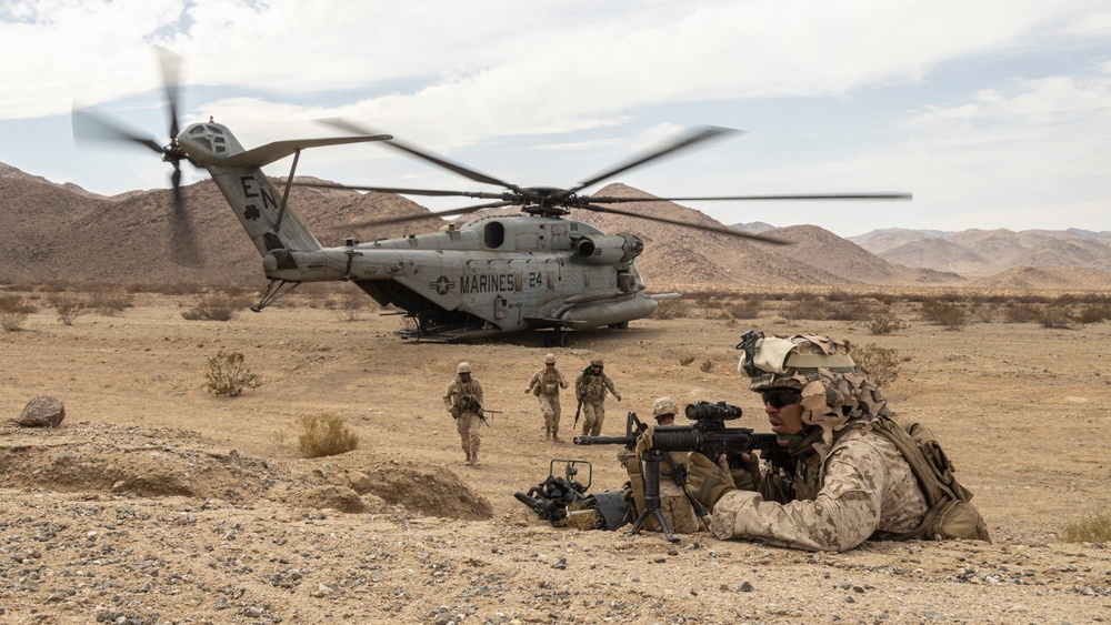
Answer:
[[(913, 193), (682, 202), (841, 236), (1111, 231), (1105, 0), (0, 0), (0, 162), (102, 194), (168, 187), (153, 152), (76, 144), (71, 125), (91, 107), (166, 143), (153, 46), (183, 59), (182, 128), (211, 115), (248, 148), (336, 135), (319, 120), (339, 117), (518, 185), (569, 188), (717, 125), (741, 132), (584, 192)], [(373, 143), (308, 150), (297, 173), (500, 191)]]

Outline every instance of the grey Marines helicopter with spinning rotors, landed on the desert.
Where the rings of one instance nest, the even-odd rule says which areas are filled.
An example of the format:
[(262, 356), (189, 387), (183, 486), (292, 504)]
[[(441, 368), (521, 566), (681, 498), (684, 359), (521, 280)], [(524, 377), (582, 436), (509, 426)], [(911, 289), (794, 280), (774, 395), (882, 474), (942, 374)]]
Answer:
[[(678, 294), (649, 294), (635, 259), (643, 241), (630, 232), (605, 234), (599, 229), (565, 219), (570, 209), (615, 213), (674, 225), (694, 228), (730, 236), (772, 244), (782, 241), (728, 228), (707, 226), (668, 218), (641, 215), (603, 204), (623, 202), (670, 202), (682, 200), (830, 200), (908, 199), (908, 194), (854, 193), (814, 195), (740, 195), (719, 198), (599, 198), (580, 195), (583, 189), (632, 168), (715, 137), (733, 132), (722, 128), (695, 129), (675, 141), (645, 152), (601, 172), (570, 189), (519, 187), (473, 169), (453, 163), (423, 149), (403, 143), (389, 134), (374, 133), (351, 122), (329, 120), (348, 131), (347, 137), (300, 139), (244, 149), (232, 132), (211, 119), (178, 130), (177, 77), (180, 58), (160, 49), (166, 99), (170, 117), (170, 141), (161, 145), (87, 110), (74, 110), (77, 139), (109, 139), (137, 143), (169, 162), (173, 172), (177, 228), (174, 249), (194, 251), (192, 230), (183, 210), (180, 163), (204, 168), (223, 193), (239, 222), (262, 256), (269, 279), (259, 312), (304, 282), (353, 282), (379, 304), (393, 305), (413, 324), (398, 331), (406, 339), (424, 341), (474, 340), (523, 330), (547, 329), (546, 346), (568, 346), (567, 330), (625, 327), (630, 321), (655, 311), (658, 301)], [(431, 216), (462, 215), (521, 206), (520, 215), (481, 216), (457, 226), (449, 223), (439, 232), (411, 234), (360, 243), (353, 238), (343, 245), (324, 248), (287, 205), (294, 184), (300, 153), (307, 148), (357, 142), (382, 142), (396, 150), (461, 174), (472, 181), (494, 184), (504, 192), (397, 189), (331, 183), (300, 183), (308, 187), (377, 191), (411, 195), (466, 196), (493, 200)], [(262, 172), (262, 167), (292, 155), (292, 165), (281, 192)], [(354, 226), (428, 219), (430, 213), (368, 220)], [(176, 254), (176, 259), (188, 259)]]

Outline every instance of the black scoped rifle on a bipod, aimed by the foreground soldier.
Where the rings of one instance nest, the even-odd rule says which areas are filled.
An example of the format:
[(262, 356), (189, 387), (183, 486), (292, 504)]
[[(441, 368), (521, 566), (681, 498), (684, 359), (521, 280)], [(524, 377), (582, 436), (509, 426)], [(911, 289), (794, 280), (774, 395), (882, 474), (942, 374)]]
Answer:
[[(664, 456), (665, 452), (698, 452), (713, 462), (718, 462), (718, 458), (724, 455), (730, 466), (741, 466), (741, 454), (745, 452), (779, 450), (775, 434), (757, 434), (748, 427), (725, 427), (725, 421), (741, 416), (741, 409), (725, 402), (687, 404), (684, 413), (687, 419), (694, 422), (693, 425), (658, 425), (649, 429), (640, 422), (637, 413), (630, 412), (624, 436), (573, 438), (575, 445), (624, 445), (629, 450), (637, 448), (642, 438), (647, 440), (648, 446), (640, 454), (640, 460), (644, 462), (644, 510), (633, 523), (630, 530), (632, 534), (640, 532), (648, 515), (651, 514), (668, 541), (672, 543), (679, 541), (672, 535), (663, 513), (660, 512), (660, 463), (670, 460)], [(677, 471), (674, 477), (679, 486), (684, 485), (684, 472)], [(697, 502), (692, 501), (692, 505), (694, 503)], [(695, 506), (695, 510), (699, 507), (701, 506)]]

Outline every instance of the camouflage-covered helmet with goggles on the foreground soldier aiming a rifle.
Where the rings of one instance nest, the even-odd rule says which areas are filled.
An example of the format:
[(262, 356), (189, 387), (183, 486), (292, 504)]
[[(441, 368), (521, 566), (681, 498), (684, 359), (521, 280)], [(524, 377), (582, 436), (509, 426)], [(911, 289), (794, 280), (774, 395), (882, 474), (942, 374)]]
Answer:
[(879, 389), (849, 355), (848, 341), (818, 334), (758, 336), (745, 345), (738, 369), (748, 374), (751, 391), (799, 391), (803, 423), (821, 425), (830, 436), (848, 421), (888, 414)]

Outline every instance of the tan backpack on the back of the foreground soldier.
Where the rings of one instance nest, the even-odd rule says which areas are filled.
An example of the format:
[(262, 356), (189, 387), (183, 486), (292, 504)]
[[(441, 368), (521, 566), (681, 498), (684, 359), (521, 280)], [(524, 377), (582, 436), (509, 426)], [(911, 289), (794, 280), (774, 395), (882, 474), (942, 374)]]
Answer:
[(913, 421), (899, 424), (892, 419), (880, 419), (872, 423), (872, 432), (891, 441), (899, 450), (929, 506), (917, 530), (893, 536), (893, 540), (991, 542), (988, 524), (971, 503), (972, 492), (957, 481), (952, 462), (929, 427)]

